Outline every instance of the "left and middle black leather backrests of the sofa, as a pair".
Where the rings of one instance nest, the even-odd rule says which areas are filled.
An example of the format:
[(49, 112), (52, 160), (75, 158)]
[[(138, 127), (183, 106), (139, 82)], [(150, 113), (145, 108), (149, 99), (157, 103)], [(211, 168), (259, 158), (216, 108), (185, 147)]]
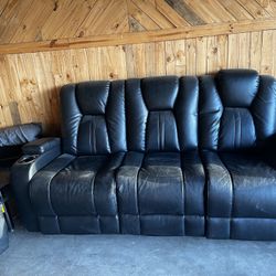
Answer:
[(194, 76), (86, 82), (62, 88), (64, 152), (182, 151), (198, 147)]

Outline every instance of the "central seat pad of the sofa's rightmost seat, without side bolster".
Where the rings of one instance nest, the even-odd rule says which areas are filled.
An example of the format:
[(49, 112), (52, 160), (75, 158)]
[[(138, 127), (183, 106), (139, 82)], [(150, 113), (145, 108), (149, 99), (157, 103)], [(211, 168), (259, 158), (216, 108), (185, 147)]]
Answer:
[(234, 190), (234, 217), (276, 219), (276, 170), (259, 153), (223, 152)]

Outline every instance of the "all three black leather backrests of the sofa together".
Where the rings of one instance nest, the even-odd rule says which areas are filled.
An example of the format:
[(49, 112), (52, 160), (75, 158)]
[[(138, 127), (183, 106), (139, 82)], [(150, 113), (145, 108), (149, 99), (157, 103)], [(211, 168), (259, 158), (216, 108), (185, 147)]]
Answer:
[(276, 132), (275, 81), (246, 70), (70, 84), (62, 88), (63, 150), (238, 150)]

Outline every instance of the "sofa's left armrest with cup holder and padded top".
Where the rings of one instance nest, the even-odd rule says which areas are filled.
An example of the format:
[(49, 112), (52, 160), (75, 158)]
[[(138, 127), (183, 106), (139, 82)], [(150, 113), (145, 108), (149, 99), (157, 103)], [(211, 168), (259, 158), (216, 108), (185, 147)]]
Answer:
[[(42, 140), (42, 139), (40, 139)], [(39, 231), (36, 215), (33, 211), (29, 194), (29, 183), (33, 176), (61, 155), (60, 139), (36, 140), (36, 145), (31, 145), (11, 168), (11, 185), (14, 192), (19, 214), (24, 226), (29, 231)]]

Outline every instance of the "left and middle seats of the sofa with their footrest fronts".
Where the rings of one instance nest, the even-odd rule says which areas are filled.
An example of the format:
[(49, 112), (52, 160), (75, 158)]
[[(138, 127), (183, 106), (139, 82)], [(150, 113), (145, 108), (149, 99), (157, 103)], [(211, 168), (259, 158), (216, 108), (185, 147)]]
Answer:
[(44, 233), (74, 233), (65, 221), (83, 217), (93, 223), (78, 222), (77, 233), (119, 233), (120, 220), (127, 234), (204, 235), (203, 191), (203, 167), (193, 151), (63, 155), (30, 183)]

